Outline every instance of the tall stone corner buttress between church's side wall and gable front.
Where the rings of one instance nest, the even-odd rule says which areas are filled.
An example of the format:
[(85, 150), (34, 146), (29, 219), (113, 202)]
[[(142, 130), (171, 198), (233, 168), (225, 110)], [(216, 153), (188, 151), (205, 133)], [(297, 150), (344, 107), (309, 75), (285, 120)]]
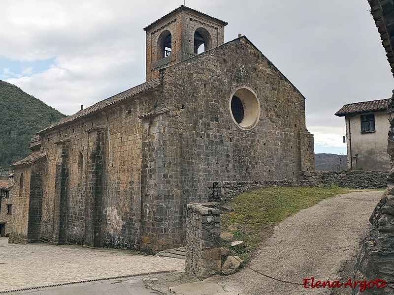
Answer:
[(181, 247), (185, 236), (181, 151), (169, 119), (159, 114), (142, 120), (140, 251), (148, 254)]

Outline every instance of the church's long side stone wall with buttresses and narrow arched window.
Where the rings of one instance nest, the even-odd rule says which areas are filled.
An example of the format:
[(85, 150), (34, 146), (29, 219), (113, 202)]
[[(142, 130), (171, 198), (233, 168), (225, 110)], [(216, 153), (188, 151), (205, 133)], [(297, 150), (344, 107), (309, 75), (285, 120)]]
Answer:
[(153, 92), (40, 134), (47, 153), (40, 239), (81, 245), (88, 235), (88, 246), (139, 249), (145, 129), (138, 116), (152, 111)]

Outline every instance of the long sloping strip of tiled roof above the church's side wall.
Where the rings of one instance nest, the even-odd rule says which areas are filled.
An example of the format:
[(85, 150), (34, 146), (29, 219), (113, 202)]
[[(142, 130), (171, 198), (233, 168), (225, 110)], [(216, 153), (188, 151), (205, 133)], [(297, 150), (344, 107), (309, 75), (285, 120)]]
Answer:
[(148, 89), (156, 88), (159, 85), (160, 85), (160, 78), (152, 79), (148, 82), (145, 82), (143, 84), (135, 86), (131, 89), (123, 91), (123, 92), (116, 94), (114, 96), (111, 96), (107, 99), (101, 100), (98, 103), (95, 103), (93, 106), (90, 106), (89, 108), (86, 108), (84, 110), (80, 110), (79, 112), (75, 113), (74, 115), (71, 115), (71, 116), (66, 117), (64, 119), (61, 119), (59, 122), (56, 122), (52, 125), (49, 125), (48, 127), (44, 128), (44, 129), (38, 131), (37, 134), (47, 131), (49, 129), (52, 129), (54, 127), (57, 127), (59, 125), (66, 124), (66, 123), (71, 122), (75, 119), (85, 117), (85, 116), (92, 114), (94, 112), (97, 112), (105, 107), (113, 105), (121, 100), (127, 99), (129, 97), (134, 96), (134, 95), (137, 95), (138, 93), (141, 93), (141, 92), (146, 91)]

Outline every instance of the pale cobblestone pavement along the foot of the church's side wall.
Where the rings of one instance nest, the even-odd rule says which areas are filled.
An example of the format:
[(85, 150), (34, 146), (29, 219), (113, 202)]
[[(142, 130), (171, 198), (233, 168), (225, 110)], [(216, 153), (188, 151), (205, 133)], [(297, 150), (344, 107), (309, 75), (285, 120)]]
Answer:
[(155, 271), (183, 271), (185, 261), (114, 249), (7, 244), (0, 238), (0, 292)]

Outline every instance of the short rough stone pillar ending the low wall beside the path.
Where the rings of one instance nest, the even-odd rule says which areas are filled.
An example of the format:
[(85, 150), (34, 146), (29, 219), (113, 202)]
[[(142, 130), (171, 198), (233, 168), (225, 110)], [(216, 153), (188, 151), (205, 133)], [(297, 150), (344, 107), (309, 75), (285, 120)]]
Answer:
[(186, 272), (200, 280), (220, 274), (220, 210), (216, 204), (188, 204), (186, 219)]

